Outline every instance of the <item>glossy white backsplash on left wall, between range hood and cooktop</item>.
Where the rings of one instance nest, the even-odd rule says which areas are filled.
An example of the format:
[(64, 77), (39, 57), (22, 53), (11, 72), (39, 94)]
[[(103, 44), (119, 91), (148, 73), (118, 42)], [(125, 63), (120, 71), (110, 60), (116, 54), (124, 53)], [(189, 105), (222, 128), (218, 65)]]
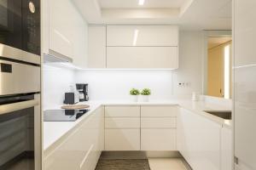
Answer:
[(74, 85), (74, 71), (44, 65), (43, 73), (44, 110), (62, 105), (65, 92), (69, 92), (70, 85)]

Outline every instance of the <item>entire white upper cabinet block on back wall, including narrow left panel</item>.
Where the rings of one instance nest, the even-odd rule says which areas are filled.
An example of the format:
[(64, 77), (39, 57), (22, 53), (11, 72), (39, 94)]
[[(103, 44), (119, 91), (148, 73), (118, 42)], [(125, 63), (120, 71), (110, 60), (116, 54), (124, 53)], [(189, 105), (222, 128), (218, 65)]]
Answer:
[(177, 69), (177, 26), (89, 26), (88, 68)]

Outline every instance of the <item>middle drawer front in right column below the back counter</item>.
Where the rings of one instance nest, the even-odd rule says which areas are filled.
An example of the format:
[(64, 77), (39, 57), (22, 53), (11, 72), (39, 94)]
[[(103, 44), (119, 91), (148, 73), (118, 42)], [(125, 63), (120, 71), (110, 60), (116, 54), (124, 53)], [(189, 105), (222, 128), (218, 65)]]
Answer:
[(176, 117), (142, 117), (142, 128), (176, 128)]

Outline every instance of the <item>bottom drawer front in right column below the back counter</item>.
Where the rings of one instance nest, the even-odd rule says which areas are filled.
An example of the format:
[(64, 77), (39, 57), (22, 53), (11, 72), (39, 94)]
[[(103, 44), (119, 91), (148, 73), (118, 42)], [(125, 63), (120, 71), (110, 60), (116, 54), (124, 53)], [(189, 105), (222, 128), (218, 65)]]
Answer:
[(142, 129), (141, 150), (177, 150), (176, 129)]

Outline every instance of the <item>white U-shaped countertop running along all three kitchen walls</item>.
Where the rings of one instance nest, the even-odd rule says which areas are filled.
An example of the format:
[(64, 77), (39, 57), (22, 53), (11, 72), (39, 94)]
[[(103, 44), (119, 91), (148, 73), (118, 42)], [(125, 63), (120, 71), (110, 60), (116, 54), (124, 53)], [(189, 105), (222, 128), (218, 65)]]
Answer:
[[(90, 105), (90, 111), (79, 118), (76, 122), (44, 122), (44, 150), (47, 150), (51, 144), (61, 138), (65, 133), (75, 127), (79, 122), (90, 116), (93, 111), (102, 105), (179, 105), (184, 109), (193, 111), (196, 114), (205, 116), (214, 122), (218, 122), (225, 127), (231, 127), (231, 121), (224, 120), (217, 116), (212, 116), (204, 111), (231, 111), (228, 105), (218, 105), (216, 103), (206, 103), (205, 101), (191, 100), (167, 100), (167, 101), (149, 101), (149, 102), (131, 102), (131, 101), (90, 101), (79, 104)], [(50, 109), (60, 109), (61, 105)], [(48, 108), (49, 109), (49, 108)]]

